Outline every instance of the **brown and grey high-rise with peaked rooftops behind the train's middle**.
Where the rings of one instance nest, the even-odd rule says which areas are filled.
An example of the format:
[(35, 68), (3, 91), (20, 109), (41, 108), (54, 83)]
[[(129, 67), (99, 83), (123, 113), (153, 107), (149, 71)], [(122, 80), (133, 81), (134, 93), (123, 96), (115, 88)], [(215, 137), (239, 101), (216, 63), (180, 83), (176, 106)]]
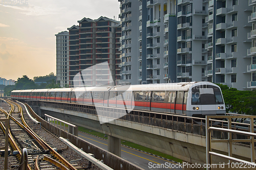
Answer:
[[(74, 77), (80, 74), (82, 77), (75, 80), (76, 85), (103, 85), (116, 83), (120, 80), (120, 48), (119, 38), (121, 27), (119, 21), (99, 17), (98, 19), (83, 18), (78, 20), (79, 26), (72, 26), (69, 30), (69, 57), (70, 57), (70, 86), (74, 86)], [(118, 61), (116, 62), (116, 59)], [(105, 68), (96, 68), (93, 65), (108, 62), (110, 72)], [(102, 66), (104, 67), (104, 66)], [(86, 71), (83, 71), (86, 69)], [(110, 77), (109, 75), (112, 75)], [(114, 84), (115, 84), (114, 83)]]

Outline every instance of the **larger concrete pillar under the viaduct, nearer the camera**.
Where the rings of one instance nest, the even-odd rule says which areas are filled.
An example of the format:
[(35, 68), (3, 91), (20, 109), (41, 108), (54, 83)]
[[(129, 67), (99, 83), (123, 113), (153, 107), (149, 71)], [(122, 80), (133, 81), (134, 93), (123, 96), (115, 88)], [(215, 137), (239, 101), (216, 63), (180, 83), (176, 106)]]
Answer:
[(121, 139), (109, 135), (108, 151), (121, 157)]

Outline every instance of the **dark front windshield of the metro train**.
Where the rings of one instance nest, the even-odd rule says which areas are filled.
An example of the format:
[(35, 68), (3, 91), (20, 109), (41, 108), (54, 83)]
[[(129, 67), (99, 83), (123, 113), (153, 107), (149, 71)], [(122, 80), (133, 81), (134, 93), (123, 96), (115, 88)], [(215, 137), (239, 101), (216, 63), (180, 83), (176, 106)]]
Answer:
[(191, 91), (191, 105), (223, 104), (221, 91), (218, 87), (211, 85), (196, 86)]

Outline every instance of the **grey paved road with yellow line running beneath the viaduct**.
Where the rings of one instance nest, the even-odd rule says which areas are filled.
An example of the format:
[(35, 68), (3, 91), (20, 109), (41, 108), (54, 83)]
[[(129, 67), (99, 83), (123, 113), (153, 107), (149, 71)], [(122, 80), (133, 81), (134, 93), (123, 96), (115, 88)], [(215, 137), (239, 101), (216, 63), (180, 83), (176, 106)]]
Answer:
[[(78, 136), (90, 143), (97, 145), (98, 147), (108, 150), (108, 141), (89, 135), (85, 133), (78, 132)], [(125, 143), (124, 143), (125, 144)], [(136, 164), (139, 167), (144, 169), (182, 169), (182, 168), (171, 168), (178, 167), (178, 165), (174, 164), (171, 161), (164, 160), (162, 158), (158, 158), (156, 156), (137, 151), (135, 149), (131, 149), (128, 147), (124, 147), (121, 145), (121, 157), (129, 162)], [(160, 168), (162, 164), (162, 168)]]

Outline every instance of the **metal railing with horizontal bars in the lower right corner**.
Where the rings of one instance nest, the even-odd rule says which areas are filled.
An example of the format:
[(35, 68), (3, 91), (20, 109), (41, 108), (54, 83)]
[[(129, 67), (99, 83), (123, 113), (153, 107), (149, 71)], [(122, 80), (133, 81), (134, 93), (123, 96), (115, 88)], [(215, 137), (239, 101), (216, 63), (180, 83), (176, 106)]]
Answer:
[[(218, 119), (218, 118), (226, 118), (228, 121), (220, 120), (222, 123), (222, 128), (216, 128), (216, 127), (210, 127), (210, 120), (211, 118)], [(250, 119), (250, 124), (244, 124), (244, 123), (236, 123), (232, 122), (232, 119), (237, 119), (237, 118), (249, 118)], [(206, 163), (211, 165), (212, 164), (212, 155), (221, 157), (224, 159), (228, 159), (229, 163), (230, 161), (236, 161), (236, 162), (242, 162), (243, 164), (246, 165), (252, 165), (256, 166), (255, 162), (255, 149), (254, 149), (254, 137), (256, 137), (256, 134), (254, 133), (254, 124), (253, 124), (253, 119), (256, 118), (256, 116), (250, 116), (250, 115), (239, 115), (239, 114), (233, 114), (233, 115), (228, 115), (228, 116), (206, 116), (205, 120), (205, 128), (206, 128)], [(227, 122), (227, 128), (223, 128), (223, 122)], [(234, 127), (232, 127), (232, 124)], [(241, 131), (241, 130), (236, 130), (236, 125), (244, 125), (248, 126), (248, 131)], [(234, 128), (234, 130), (232, 129)], [(220, 132), (227, 132), (227, 139), (211, 139), (212, 136), (212, 131), (220, 131)], [(242, 134), (246, 136), (250, 136), (250, 139), (232, 139), (232, 134)], [(211, 143), (212, 142), (227, 142), (228, 144), (228, 156), (223, 155), (217, 152), (212, 152), (211, 150)], [(251, 162), (234, 158), (232, 157), (232, 143), (233, 142), (250, 142), (250, 155), (251, 155)], [(207, 166), (207, 170), (210, 170), (211, 167)]]

